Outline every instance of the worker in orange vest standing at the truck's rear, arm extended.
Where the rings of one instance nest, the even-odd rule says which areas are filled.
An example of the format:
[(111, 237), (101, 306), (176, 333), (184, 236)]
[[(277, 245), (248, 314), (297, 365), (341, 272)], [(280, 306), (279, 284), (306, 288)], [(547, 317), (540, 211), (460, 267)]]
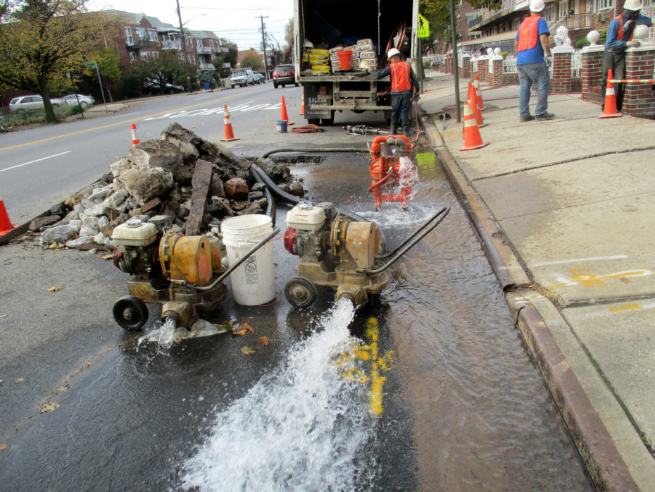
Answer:
[(389, 49), (387, 53), (389, 66), (382, 70), (370, 70), (373, 78), (391, 76), (391, 135), (396, 135), (398, 123), (403, 125), (403, 133), (406, 137), (411, 135), (409, 129), (409, 118), (411, 113), (411, 102), (418, 99), (420, 89), (418, 79), (412, 70), (411, 65), (402, 61), (400, 51), (395, 48)]

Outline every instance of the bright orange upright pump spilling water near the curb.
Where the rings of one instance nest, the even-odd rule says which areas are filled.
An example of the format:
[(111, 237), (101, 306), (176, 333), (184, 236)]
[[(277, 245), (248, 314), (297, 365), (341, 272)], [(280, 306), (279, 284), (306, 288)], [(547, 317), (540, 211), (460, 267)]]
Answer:
[[(368, 168), (371, 178), (368, 191), (375, 197), (376, 210), (382, 208), (382, 202), (400, 202), (402, 207), (408, 206), (413, 174), (413, 164), (409, 159), (412, 148), (405, 135), (378, 135), (373, 140), (370, 146), (373, 162)], [(399, 186), (397, 194), (382, 195), (382, 190), (388, 185)]]

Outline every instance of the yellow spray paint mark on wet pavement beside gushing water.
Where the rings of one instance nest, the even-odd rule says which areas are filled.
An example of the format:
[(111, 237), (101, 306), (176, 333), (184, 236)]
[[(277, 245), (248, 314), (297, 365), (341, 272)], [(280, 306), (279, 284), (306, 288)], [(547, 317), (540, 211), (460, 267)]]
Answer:
[[(370, 383), (370, 411), (375, 415), (382, 414), (382, 385), (387, 378), (380, 376), (380, 371), (392, 369), (393, 350), (387, 350), (382, 357), (378, 355), (378, 320), (369, 318), (366, 320), (366, 336), (370, 340), (369, 345), (361, 345), (353, 351), (352, 357), (370, 362), (370, 377), (361, 369), (351, 368), (339, 373), (348, 381), (356, 383)], [(343, 366), (351, 356), (342, 354), (335, 364)]]

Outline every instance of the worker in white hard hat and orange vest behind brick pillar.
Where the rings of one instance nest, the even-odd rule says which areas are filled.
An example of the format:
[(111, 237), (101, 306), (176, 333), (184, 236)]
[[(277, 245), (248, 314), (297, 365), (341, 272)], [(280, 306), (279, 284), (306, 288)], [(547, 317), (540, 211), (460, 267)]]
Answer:
[[(640, 44), (637, 39), (632, 40), (635, 25), (643, 24), (649, 27), (652, 25), (651, 19), (640, 13), (642, 7), (642, 0), (625, 0), (623, 13), (613, 19), (607, 27), (607, 39), (603, 52), (603, 84), (601, 86), (603, 109), (605, 109), (607, 73), (612, 70), (615, 80), (625, 79), (625, 48), (637, 47)], [(623, 106), (623, 84), (614, 84), (614, 94), (616, 94), (616, 109), (620, 111)]]

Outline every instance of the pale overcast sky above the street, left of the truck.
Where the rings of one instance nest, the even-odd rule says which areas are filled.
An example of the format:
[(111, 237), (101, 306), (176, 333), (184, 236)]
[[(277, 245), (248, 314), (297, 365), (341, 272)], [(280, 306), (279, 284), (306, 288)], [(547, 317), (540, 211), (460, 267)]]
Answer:
[[(182, 23), (191, 30), (216, 32), (239, 49), (261, 46), (261, 20), (266, 31), (285, 44), (285, 25), (294, 16), (292, 0), (180, 0)], [(90, 11), (116, 10), (145, 13), (165, 23), (179, 25), (175, 0), (89, 0)], [(268, 16), (268, 18), (266, 18)]]

